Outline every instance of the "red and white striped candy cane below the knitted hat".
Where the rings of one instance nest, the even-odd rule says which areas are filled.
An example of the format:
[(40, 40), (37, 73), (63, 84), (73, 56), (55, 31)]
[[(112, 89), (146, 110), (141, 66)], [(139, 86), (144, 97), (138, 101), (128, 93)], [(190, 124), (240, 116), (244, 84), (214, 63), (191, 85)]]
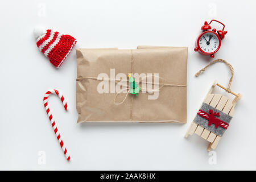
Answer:
[(60, 100), (62, 101), (62, 104), (64, 105), (65, 110), (68, 110), (68, 105), (67, 102), (65, 101), (65, 98), (63, 97), (63, 95), (58, 91), (58, 90), (49, 90), (48, 92), (46, 92), (46, 95), (44, 96), (44, 107), (46, 108), (46, 112), (48, 114), (49, 117), (49, 121), (51, 122), (52, 128), (56, 134), (57, 139), (59, 140), (60, 146), (62, 148), (62, 150), (64, 151), (64, 154), (67, 158), (67, 160), (70, 160), (70, 156), (68, 155), (68, 151), (67, 148), (65, 147), (62, 138), (60, 137), (60, 133), (57, 129), (56, 123), (55, 123), (55, 119), (53, 119), (52, 113), (49, 110), (49, 106), (48, 106), (48, 97), (51, 94), (56, 94), (57, 96), (60, 97)]

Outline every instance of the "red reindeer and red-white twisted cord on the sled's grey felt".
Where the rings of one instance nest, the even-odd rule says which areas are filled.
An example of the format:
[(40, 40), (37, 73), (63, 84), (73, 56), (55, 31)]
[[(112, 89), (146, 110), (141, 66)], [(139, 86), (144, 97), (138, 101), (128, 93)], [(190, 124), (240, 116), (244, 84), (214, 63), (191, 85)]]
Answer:
[(209, 121), (208, 126), (212, 125), (213, 123), (216, 128), (220, 126), (220, 127), (223, 127), (224, 129), (228, 129), (228, 126), (229, 126), (228, 123), (221, 121), (220, 119), (215, 117), (215, 116), (220, 117), (220, 113), (216, 113), (216, 112), (213, 113), (213, 110), (209, 110), (209, 114), (208, 114), (205, 111), (200, 109), (197, 112), (197, 114)]

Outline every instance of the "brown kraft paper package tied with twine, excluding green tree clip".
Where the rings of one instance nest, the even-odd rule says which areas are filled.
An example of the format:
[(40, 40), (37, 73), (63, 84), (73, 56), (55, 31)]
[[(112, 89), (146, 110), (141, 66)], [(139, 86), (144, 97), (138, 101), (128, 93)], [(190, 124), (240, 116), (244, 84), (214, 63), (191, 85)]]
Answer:
[[(76, 49), (81, 122), (187, 122), (187, 47)], [(127, 74), (141, 88), (129, 93)]]

